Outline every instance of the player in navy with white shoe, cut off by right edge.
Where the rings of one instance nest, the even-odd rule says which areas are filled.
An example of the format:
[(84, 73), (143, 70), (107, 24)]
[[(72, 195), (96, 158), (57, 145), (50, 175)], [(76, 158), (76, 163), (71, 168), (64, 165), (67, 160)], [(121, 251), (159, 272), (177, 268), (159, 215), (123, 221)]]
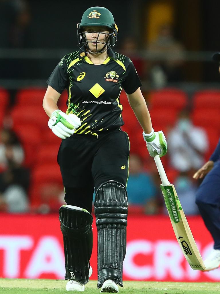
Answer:
[[(220, 53), (214, 54), (213, 60), (219, 63)], [(220, 141), (209, 161), (194, 174), (193, 178), (201, 179), (204, 176), (196, 193), (196, 204), (214, 240), (214, 248), (204, 260), (205, 271), (209, 271), (220, 266)]]

